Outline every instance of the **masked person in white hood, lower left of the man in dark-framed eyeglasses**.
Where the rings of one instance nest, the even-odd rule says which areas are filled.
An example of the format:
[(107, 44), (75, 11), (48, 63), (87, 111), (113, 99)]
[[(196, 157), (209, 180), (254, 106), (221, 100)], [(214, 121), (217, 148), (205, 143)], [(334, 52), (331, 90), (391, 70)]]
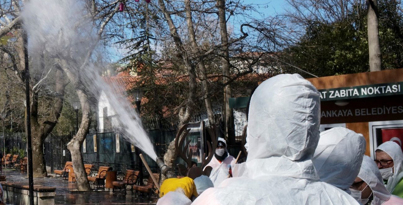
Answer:
[(397, 205), (403, 204), (403, 199), (391, 195), (383, 184), (378, 167), (368, 156), (362, 159), (361, 169), (350, 187), (351, 196), (361, 204)]

